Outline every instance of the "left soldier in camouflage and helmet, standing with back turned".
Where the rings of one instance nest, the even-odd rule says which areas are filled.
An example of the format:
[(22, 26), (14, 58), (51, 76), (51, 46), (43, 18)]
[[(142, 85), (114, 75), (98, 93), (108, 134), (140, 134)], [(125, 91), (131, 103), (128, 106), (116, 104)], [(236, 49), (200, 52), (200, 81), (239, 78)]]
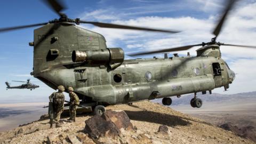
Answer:
[[(65, 91), (64, 86), (59, 85), (58, 90), (59, 90), (58, 92), (53, 92), (49, 97), (50, 102), (52, 102), (53, 118), (56, 123), (55, 127), (60, 127), (60, 124), (59, 124), (60, 115), (63, 111), (64, 100), (65, 100), (65, 95), (63, 94), (63, 91)], [(50, 121), (50, 123), (51, 123), (51, 121)], [(52, 128), (52, 123), (51, 123), (51, 128)]]

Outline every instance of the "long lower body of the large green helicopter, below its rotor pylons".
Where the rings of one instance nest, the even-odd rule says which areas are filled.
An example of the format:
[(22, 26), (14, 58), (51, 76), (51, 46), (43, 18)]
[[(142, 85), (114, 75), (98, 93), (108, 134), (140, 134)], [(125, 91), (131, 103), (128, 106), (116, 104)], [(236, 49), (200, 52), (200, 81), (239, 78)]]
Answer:
[[(214, 67), (217, 63), (219, 67)], [(228, 86), (234, 78), (229, 73), (232, 72), (220, 58), (172, 57), (125, 60), (110, 71), (106, 67), (63, 66), (40, 75), (51, 79), (49, 82), (54, 85), (75, 87), (82, 100), (114, 105), (211, 91)]]

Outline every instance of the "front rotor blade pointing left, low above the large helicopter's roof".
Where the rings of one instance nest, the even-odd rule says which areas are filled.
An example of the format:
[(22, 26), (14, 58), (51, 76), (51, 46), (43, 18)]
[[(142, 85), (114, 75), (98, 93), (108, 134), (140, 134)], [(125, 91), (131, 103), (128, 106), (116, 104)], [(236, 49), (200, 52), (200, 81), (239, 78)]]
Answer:
[(153, 54), (153, 53), (164, 53), (164, 52), (184, 51), (184, 50), (190, 49), (191, 47), (200, 46), (200, 45), (202, 45), (202, 44), (180, 46), (180, 47), (174, 47), (174, 48), (171, 48), (171, 49), (164, 49), (164, 50), (157, 50), (157, 51), (131, 53), (131, 54), (127, 54), (127, 55), (129, 55), (129, 56), (135, 56), (135, 55), (145, 55), (145, 54)]

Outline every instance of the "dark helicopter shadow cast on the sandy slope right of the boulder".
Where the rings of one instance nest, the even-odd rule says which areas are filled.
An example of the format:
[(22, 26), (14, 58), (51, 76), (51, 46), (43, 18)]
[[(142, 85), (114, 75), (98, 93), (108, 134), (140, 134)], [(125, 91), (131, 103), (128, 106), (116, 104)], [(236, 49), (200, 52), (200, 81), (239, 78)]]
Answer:
[(125, 110), (125, 113), (129, 116), (130, 119), (135, 121), (143, 121), (150, 123), (157, 123), (167, 126), (177, 126), (177, 125), (189, 125), (191, 124), (188, 121), (184, 121), (178, 116), (156, 113), (154, 111), (129, 111)]

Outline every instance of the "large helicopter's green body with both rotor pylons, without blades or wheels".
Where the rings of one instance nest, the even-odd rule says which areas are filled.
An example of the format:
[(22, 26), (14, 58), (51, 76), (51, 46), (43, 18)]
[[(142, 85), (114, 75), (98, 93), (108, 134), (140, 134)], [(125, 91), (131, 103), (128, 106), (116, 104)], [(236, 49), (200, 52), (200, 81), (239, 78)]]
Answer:
[(100, 34), (70, 23), (48, 24), (34, 31), (32, 74), (53, 89), (58, 85), (72, 86), (79, 99), (102, 105), (205, 92), (221, 86), (227, 89), (235, 78), (221, 59), (218, 45), (199, 49), (196, 57), (121, 63), (73, 62), (71, 58), (73, 51), (103, 53), (106, 49), (105, 38)]

